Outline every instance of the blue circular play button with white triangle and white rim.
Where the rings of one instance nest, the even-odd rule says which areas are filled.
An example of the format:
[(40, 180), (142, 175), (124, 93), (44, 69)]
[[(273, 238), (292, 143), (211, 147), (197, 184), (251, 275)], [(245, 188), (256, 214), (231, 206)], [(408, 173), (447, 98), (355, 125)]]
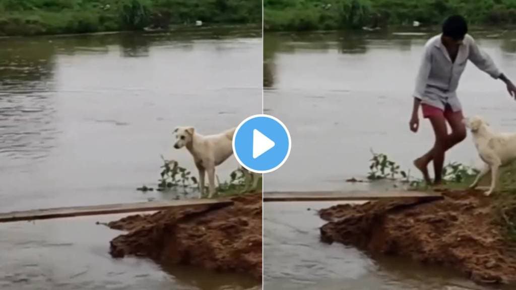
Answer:
[(292, 140), (280, 120), (254, 115), (242, 121), (233, 135), (233, 152), (244, 168), (267, 173), (280, 168), (288, 158)]

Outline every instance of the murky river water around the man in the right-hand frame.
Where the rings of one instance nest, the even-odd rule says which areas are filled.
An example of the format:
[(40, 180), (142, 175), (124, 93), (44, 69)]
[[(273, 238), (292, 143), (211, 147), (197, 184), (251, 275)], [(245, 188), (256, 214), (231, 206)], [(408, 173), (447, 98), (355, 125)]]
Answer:
[[(409, 131), (415, 73), (423, 46), (436, 31), (266, 33), (264, 110), (292, 135), (287, 162), (265, 176), (267, 191), (389, 190), (390, 183), (350, 184), (365, 178), (370, 150), (402, 169), (433, 142), (422, 120)], [(516, 33), (472, 31), (483, 50), (516, 81)], [(481, 115), (500, 131), (516, 132), (516, 102), (505, 86), (472, 63), (458, 90), (466, 116)], [(448, 160), (477, 165), (470, 137)], [(314, 210), (335, 203), (264, 205), (264, 286), (274, 289), (461, 289), (457, 273), (400, 259), (378, 259), (352, 247), (319, 242)], [(308, 210), (310, 208), (310, 210)]]

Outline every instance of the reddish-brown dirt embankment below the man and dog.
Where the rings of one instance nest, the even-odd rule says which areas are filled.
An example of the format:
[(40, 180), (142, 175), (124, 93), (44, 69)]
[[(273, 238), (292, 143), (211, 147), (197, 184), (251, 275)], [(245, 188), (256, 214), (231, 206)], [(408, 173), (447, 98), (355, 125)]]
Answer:
[(478, 191), (443, 195), (430, 202), (384, 200), (322, 210), (329, 222), (320, 229), (321, 240), (453, 267), (478, 283), (516, 283), (516, 246), (506, 238), (499, 218), (504, 214), (493, 197)]

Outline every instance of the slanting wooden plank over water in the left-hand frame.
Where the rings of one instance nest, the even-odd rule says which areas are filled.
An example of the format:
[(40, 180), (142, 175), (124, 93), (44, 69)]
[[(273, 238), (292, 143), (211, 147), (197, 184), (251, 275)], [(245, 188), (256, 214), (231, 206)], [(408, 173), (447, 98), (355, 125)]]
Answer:
[(0, 213), (0, 222), (53, 219), (76, 216), (107, 215), (135, 212), (149, 212), (166, 210), (167, 208), (190, 207), (207, 205), (211, 208), (221, 208), (232, 205), (233, 201), (228, 199), (195, 199), (195, 200), (174, 200), (174, 201), (150, 201), (137, 203), (118, 203), (91, 206), (73, 206), (46, 208), (41, 210), (20, 211)]

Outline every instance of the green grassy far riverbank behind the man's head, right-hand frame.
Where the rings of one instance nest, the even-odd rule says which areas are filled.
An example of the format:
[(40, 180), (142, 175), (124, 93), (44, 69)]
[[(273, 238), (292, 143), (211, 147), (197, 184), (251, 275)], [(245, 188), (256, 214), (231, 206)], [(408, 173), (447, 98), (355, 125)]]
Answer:
[(472, 24), (516, 23), (516, 0), (264, 0), (265, 30), (330, 30), (440, 24), (460, 13)]

